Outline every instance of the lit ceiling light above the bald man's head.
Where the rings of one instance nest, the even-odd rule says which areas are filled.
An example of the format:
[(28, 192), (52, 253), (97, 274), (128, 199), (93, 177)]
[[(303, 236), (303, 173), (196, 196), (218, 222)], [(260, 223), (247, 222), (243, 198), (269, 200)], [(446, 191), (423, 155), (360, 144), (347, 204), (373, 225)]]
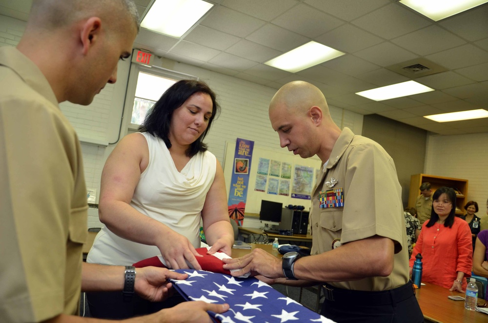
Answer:
[(291, 73), (296, 73), (305, 68), (323, 63), (342, 56), (345, 53), (327, 47), (315, 41), (290, 50), (264, 64), (273, 66)]

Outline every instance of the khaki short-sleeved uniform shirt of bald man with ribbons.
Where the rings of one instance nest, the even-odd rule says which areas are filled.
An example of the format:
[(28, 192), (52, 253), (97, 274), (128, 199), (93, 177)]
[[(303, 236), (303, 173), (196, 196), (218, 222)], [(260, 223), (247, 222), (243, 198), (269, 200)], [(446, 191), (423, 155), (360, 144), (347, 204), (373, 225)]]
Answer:
[[(327, 182), (337, 182), (333, 187)], [(344, 206), (319, 207), (319, 193), (343, 189)], [(374, 235), (395, 243), (393, 271), (387, 277), (331, 282), (340, 288), (382, 291), (405, 285), (409, 280), (405, 218), (395, 164), (376, 142), (355, 136), (344, 128), (313, 191), (310, 222), (312, 255), (332, 250), (339, 243)], [(361, 263), (358, 263), (361, 266)]]

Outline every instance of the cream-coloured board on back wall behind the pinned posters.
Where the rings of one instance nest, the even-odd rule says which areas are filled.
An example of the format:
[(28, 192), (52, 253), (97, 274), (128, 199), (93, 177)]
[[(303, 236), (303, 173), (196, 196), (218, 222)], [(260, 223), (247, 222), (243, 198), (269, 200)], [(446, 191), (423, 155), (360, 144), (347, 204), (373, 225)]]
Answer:
[[(234, 168), (234, 153), (236, 149), (236, 141), (227, 141), (225, 145), (225, 153), (224, 153), (224, 178), (225, 178), (225, 187), (227, 193), (227, 199), (229, 198), (229, 190), (230, 184), (232, 179), (232, 172)], [(285, 195), (277, 195), (277, 194), (268, 194), (268, 185), (269, 179), (273, 180), (283, 180), (281, 177), (267, 175), (268, 181), (266, 181), (265, 191), (257, 191), (256, 190), (256, 179), (259, 177), (263, 177), (263, 175), (258, 175), (258, 164), (260, 158), (268, 159), (270, 161), (275, 162), (285, 162), (291, 164), (291, 178), (290, 180), (290, 194)], [(315, 185), (316, 175), (318, 174), (320, 167), (322, 166), (322, 162), (317, 156), (303, 159), (300, 156), (293, 155), (292, 152), (287, 151), (285, 148), (283, 149), (270, 149), (260, 147), (259, 145), (254, 144), (253, 152), (252, 152), (252, 161), (251, 161), (251, 168), (249, 169), (249, 183), (247, 186), (247, 201), (245, 206), (245, 213), (254, 213), (259, 214), (261, 208), (261, 201), (273, 201), (273, 202), (280, 202), (283, 203), (283, 206), (287, 206), (288, 204), (292, 205), (303, 205), (305, 206), (305, 211), (310, 210), (311, 201), (304, 200), (304, 199), (297, 199), (291, 197), (293, 182), (295, 181), (295, 166), (306, 166), (313, 168), (313, 185)]]

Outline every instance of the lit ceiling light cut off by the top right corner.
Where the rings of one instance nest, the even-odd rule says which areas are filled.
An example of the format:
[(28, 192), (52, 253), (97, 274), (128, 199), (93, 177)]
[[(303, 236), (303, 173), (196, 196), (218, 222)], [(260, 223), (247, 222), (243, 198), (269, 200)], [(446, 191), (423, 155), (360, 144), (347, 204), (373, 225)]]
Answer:
[(407, 7), (438, 21), (488, 2), (488, 0), (400, 0)]

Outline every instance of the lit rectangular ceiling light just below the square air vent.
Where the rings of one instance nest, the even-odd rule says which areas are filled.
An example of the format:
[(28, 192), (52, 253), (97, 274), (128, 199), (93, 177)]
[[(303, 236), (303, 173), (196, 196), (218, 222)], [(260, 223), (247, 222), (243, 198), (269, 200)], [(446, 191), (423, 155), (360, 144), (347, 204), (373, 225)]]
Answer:
[(378, 87), (376, 89), (357, 92), (356, 94), (374, 101), (383, 101), (430, 91), (434, 91), (434, 89), (417, 83), (416, 81), (406, 81)]

